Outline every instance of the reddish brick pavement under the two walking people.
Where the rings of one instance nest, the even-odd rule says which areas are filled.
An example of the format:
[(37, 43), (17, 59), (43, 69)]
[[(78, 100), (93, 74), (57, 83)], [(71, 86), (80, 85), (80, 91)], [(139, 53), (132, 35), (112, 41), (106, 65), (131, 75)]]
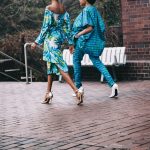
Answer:
[(54, 82), (53, 103), (40, 101), (46, 83), (0, 82), (0, 150), (150, 150), (150, 81), (110, 89), (84, 82), (84, 104)]

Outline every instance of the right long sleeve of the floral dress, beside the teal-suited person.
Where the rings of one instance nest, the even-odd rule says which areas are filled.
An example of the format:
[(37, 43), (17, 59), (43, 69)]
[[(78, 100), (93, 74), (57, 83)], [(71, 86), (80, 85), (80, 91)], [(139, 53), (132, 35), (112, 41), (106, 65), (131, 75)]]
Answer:
[(65, 38), (67, 39), (69, 45), (74, 45), (72, 32), (71, 32), (71, 21), (68, 13), (66, 13), (65, 16), (65, 24), (63, 26), (63, 31), (65, 33)]

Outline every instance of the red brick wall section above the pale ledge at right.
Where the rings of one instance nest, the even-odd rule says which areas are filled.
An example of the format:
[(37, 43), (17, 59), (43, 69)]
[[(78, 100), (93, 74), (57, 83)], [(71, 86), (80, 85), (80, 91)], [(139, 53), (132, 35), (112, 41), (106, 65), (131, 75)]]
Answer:
[(150, 1), (122, 0), (121, 5), (128, 60), (150, 60)]

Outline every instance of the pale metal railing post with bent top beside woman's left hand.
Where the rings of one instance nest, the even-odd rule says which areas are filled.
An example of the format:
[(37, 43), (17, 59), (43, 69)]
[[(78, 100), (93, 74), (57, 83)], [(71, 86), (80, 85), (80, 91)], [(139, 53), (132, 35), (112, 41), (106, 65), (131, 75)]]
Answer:
[(27, 46), (31, 45), (32, 43), (26, 43), (24, 45), (24, 59), (25, 59), (25, 72), (26, 72), (26, 84), (29, 84), (28, 78), (28, 61), (27, 61)]

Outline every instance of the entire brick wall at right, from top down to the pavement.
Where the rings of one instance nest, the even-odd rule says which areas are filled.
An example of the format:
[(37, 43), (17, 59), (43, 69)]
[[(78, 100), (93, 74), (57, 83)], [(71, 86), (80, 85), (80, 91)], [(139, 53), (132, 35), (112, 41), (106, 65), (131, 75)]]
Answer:
[(150, 0), (121, 0), (125, 74), (131, 79), (150, 79)]

